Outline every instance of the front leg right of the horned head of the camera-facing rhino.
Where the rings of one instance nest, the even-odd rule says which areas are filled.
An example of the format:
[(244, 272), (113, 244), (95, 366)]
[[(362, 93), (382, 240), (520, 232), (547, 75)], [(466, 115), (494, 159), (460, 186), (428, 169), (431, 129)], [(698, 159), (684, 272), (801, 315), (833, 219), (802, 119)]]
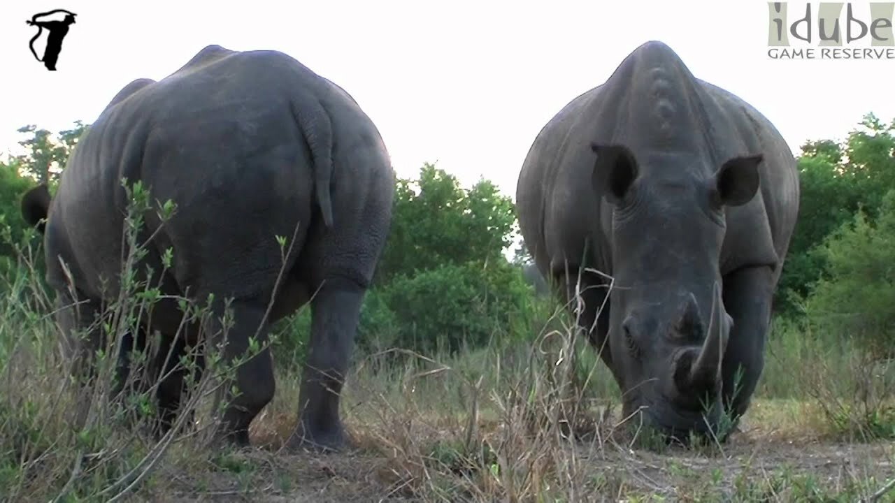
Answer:
[(733, 319), (722, 366), (722, 399), (734, 420), (746, 413), (764, 367), (774, 277), (769, 267), (737, 269), (724, 278), (724, 307)]

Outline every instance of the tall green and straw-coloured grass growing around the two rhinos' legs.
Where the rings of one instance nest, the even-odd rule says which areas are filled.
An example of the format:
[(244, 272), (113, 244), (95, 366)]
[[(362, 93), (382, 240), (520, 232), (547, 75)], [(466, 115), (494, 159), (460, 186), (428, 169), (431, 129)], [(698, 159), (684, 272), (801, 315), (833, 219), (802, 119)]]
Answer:
[[(98, 380), (79, 390), (62, 356), (53, 304), (31, 261), (37, 256), (21, 253), (18, 267), (7, 271), (6, 302), (0, 303), (0, 499), (159, 500), (177, 492), (251, 493), (264, 500), (303, 494), (315, 477), (334, 476), (326, 470), (297, 474), (299, 466), (314, 463), (311, 457), (280, 450), (294, 426), (297, 364), (277, 367), (277, 396), (251, 425), (254, 450), (236, 453), (212, 442), (213, 398), (233, 371), (222, 362), (211, 362), (213, 371), (196, 383), (177, 428), (162, 438), (146, 432), (152, 389), (115, 399), (109, 355), (151, 311), (157, 298), (147, 292), (153, 286), (134, 281), (129, 294), (108, 306), (103, 322), (110, 337), (97, 359)], [(356, 492), (341, 493), (343, 499), (368, 500), (371, 492), (422, 501), (829, 495), (823, 491), (831, 489), (818, 489), (821, 482), (802, 475), (736, 465), (736, 441), (686, 452), (644, 442), (648, 435), (637, 418), (620, 417), (618, 387), (592, 348), (575, 337), (567, 311), (533, 298), (527, 312), (529, 318), (511, 328), (524, 335), (497, 330), (490, 345), (460, 354), (398, 348), (358, 354), (343, 405), (354, 454), (342, 456), (354, 463), (349, 471), (365, 475)], [(205, 314), (197, 308), (195, 315)], [(753, 409), (741, 426), (742, 436), (756, 439), (757, 451), (774, 452), (780, 439), (895, 436), (892, 373), (882, 362), (867, 362), (847, 337), (833, 346), (829, 337), (777, 320), (767, 354)], [(322, 459), (335, 463), (339, 456)], [(230, 482), (219, 482), (215, 473), (228, 473)], [(882, 486), (881, 475), (853, 471), (834, 485), (849, 497), (870, 497)], [(299, 479), (303, 484), (296, 485)]]

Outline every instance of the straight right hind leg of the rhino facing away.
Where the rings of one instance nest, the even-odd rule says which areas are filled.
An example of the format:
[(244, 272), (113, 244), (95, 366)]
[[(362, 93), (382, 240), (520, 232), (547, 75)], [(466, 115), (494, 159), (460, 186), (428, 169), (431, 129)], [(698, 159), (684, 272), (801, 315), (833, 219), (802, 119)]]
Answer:
[(311, 301), (311, 352), (299, 393), (293, 448), (338, 450), (345, 446), (339, 396), (354, 349), (365, 289), (341, 277), (326, 280)]

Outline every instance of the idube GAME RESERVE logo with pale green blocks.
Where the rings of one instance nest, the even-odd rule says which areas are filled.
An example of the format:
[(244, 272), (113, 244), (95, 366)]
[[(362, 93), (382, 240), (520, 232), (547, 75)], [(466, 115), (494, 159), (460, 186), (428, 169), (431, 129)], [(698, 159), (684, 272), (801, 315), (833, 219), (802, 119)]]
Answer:
[(771, 59), (895, 60), (895, 2), (768, 2)]

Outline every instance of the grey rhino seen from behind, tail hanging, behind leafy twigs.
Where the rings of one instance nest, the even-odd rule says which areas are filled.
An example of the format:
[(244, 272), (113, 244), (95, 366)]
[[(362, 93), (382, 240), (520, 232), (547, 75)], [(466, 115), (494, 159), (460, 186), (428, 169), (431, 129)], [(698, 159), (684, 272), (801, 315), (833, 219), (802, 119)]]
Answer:
[[(100, 303), (118, 294), (123, 177), (141, 180), (154, 203), (177, 204), (164, 226), (157, 212), (146, 215), (141, 242), (158, 234), (136, 270), (151, 266), (155, 277), (149, 284), (161, 282), (165, 294), (200, 303), (214, 294), (218, 319), (206, 332), (212, 337), (221, 332), (224, 300), (234, 297), (226, 357), (242, 354), (259, 326), (263, 345), (272, 322), (310, 301), (311, 351), (292, 445), (344, 447), (335, 393), (342, 388), (362, 298), (389, 232), (395, 187), (387, 149), (370, 118), (344, 90), (276, 51), (209, 46), (166, 79), (133, 81), (81, 139), (53, 200), (43, 186), (22, 200), (31, 225), (47, 217), (39, 228), (57, 307), (74, 300), (60, 259), (71, 271), (77, 300), (85, 302), (77, 313), (68, 307), (57, 314), (64, 333), (86, 327)], [(262, 323), (283, 267), (277, 236), (286, 237), (286, 249), (292, 243), (293, 250)], [(172, 268), (159, 277), (161, 254), (169, 247)], [(183, 351), (183, 339), (197, 340), (195, 326), (172, 340), (181, 318), (174, 301), (156, 306), (152, 317), (151, 328), (176, 352)], [(125, 343), (142, 345), (144, 335)], [(81, 358), (100, 343), (98, 332), (91, 336), (80, 348)], [(125, 351), (123, 375), (127, 362)], [(162, 361), (155, 364), (158, 371)], [(158, 390), (161, 431), (175, 418), (182, 385), (183, 375), (175, 374)], [(267, 349), (239, 368), (236, 385), (242, 395), (226, 409), (221, 436), (247, 445), (250, 422), (274, 396)]]

